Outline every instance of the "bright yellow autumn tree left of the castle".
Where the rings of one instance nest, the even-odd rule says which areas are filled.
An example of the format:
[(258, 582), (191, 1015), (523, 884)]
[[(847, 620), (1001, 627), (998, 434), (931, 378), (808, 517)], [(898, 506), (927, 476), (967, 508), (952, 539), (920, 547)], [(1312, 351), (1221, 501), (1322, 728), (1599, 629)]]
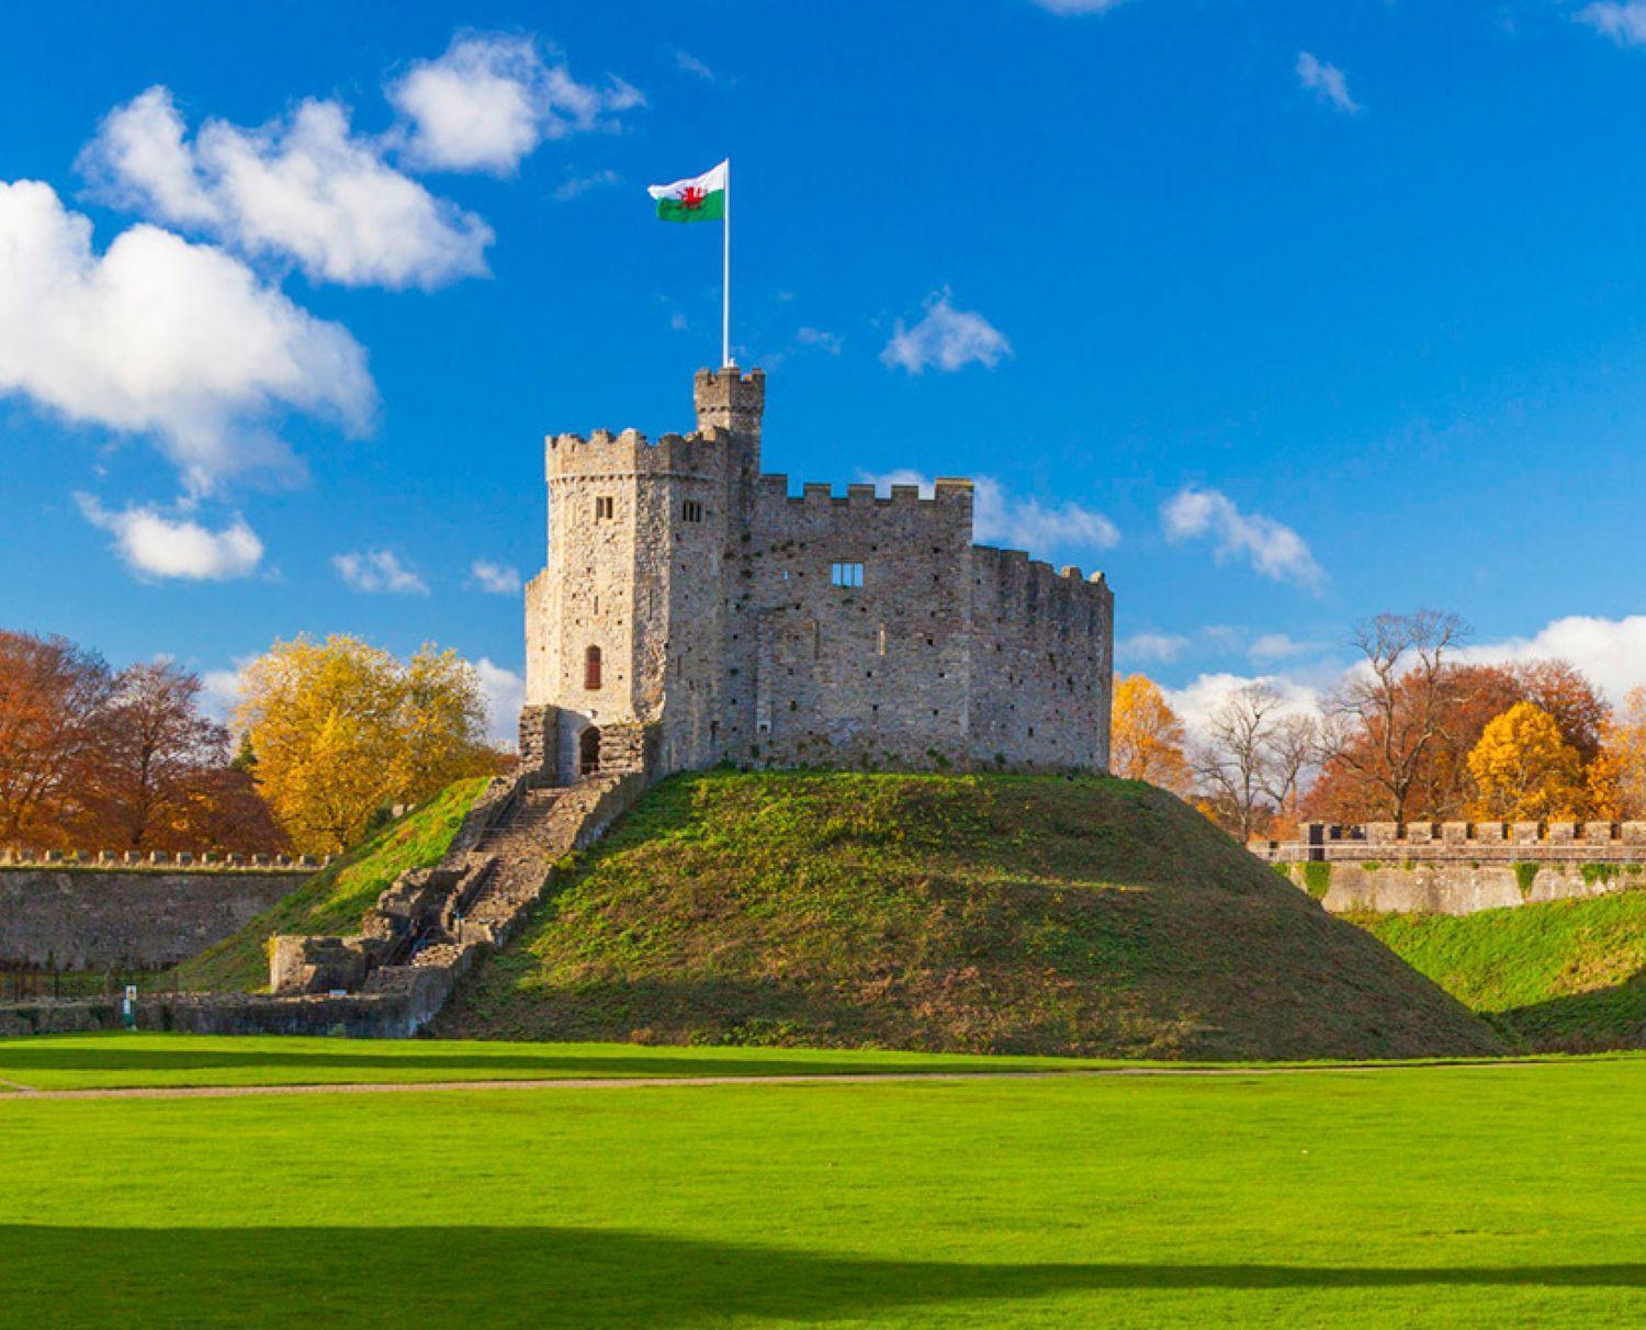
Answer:
[(425, 645), (402, 663), (357, 637), (277, 642), (244, 675), (235, 719), (291, 844), (357, 844), (380, 808), (497, 770), (474, 668)]

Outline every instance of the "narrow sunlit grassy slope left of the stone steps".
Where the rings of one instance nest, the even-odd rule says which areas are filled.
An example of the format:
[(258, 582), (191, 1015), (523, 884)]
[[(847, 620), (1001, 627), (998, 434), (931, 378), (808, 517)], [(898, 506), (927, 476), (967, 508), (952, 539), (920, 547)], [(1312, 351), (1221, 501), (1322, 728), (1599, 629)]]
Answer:
[[(433, 864), (446, 853), (486, 782), (484, 775), (458, 780), (438, 798), (397, 818), (359, 849), (316, 872), (272, 910), (179, 965), (178, 986), (255, 993), (268, 986), (267, 943), (275, 933), (356, 932), (360, 918), (400, 872)], [(168, 974), (166, 986), (171, 979)]]

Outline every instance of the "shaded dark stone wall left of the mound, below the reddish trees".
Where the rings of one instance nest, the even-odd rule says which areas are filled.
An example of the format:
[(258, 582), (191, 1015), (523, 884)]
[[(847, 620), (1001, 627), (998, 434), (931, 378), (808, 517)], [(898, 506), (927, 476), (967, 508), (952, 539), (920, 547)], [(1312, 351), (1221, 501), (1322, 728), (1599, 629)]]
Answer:
[(222, 942), (313, 867), (0, 867), (0, 968), (155, 970)]

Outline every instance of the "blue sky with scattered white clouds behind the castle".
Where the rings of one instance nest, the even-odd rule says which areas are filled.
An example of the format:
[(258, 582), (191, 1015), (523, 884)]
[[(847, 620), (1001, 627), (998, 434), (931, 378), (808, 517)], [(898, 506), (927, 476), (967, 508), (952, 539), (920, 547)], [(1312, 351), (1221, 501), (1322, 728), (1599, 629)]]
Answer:
[(0, 86), (7, 627), (505, 696), (542, 436), (718, 359), (644, 186), (729, 155), (767, 469), (983, 477), (1190, 709), (1420, 604), (1646, 680), (1646, 3), (63, 3)]

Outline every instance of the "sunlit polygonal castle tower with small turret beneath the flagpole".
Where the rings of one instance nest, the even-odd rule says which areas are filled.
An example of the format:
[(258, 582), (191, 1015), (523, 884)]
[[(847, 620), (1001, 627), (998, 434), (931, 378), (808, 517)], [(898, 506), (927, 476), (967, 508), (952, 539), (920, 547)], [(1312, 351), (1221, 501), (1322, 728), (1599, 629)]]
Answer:
[(693, 388), (693, 435), (546, 439), (522, 754), (553, 779), (719, 757), (723, 568), (749, 527), (765, 375), (700, 370)]

